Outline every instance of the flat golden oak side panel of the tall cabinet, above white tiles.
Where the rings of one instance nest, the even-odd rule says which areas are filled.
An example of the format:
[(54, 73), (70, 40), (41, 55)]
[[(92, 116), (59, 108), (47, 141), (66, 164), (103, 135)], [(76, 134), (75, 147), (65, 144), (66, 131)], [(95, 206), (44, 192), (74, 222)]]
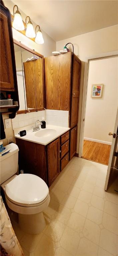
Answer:
[(69, 111), (71, 60), (71, 52), (44, 59), (46, 109)]

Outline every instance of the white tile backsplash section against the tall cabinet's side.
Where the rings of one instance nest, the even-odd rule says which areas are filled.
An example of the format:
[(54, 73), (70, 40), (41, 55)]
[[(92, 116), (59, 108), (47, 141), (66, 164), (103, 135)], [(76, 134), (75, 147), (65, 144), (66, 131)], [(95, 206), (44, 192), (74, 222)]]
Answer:
[(45, 110), (45, 116), (46, 116), (46, 123), (62, 126), (62, 127), (69, 127), (68, 125), (68, 116), (69, 111), (63, 111), (63, 110)]

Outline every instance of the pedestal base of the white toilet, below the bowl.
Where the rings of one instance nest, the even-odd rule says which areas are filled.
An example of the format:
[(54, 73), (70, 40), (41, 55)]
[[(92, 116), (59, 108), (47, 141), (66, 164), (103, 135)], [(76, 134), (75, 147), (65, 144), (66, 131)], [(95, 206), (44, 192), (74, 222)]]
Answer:
[(39, 234), (46, 226), (43, 212), (37, 214), (18, 214), (19, 227), (29, 234)]

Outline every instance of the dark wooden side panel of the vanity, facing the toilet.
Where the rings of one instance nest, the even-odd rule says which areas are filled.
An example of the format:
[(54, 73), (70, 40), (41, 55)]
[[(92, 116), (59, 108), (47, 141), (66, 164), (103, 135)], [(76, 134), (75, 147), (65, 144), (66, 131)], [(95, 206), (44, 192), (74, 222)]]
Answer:
[(48, 184), (46, 147), (18, 138), (16, 144), (19, 148), (19, 171), (35, 174)]

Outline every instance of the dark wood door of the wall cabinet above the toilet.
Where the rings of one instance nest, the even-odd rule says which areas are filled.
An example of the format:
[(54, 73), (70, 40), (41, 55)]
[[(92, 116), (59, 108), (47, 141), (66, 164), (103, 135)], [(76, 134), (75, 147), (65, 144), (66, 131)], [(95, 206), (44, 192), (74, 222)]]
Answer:
[(7, 14), (0, 10), (0, 86), (1, 90), (14, 91), (8, 18)]

